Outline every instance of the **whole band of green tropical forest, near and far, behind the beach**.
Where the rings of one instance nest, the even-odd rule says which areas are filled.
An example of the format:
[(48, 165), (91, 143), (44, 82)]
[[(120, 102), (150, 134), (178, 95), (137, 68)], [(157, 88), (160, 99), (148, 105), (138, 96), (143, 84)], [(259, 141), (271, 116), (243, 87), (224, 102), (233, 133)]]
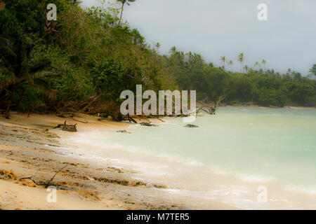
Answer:
[[(232, 73), (176, 48), (160, 55), (159, 43), (150, 47), (137, 29), (120, 21), (120, 8), (83, 10), (70, 0), (2, 1), (0, 108), (6, 116), (10, 109), (117, 113), (119, 94), (136, 84), (197, 90), (204, 102), (225, 95), (225, 104), (316, 106), (316, 81), (294, 71)], [(58, 8), (56, 21), (46, 18), (48, 3)]]

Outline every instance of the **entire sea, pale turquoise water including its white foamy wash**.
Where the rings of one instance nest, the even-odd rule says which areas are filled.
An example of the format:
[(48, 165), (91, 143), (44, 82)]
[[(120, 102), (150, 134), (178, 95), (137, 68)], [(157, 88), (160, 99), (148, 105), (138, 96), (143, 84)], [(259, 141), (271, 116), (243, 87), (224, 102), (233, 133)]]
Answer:
[[(131, 134), (97, 130), (76, 139), (93, 146), (77, 153), (133, 167), (135, 178), (201, 203), (316, 208), (316, 110), (225, 107), (193, 124), (166, 118), (159, 127), (131, 125)], [(258, 200), (262, 186), (268, 202)]]

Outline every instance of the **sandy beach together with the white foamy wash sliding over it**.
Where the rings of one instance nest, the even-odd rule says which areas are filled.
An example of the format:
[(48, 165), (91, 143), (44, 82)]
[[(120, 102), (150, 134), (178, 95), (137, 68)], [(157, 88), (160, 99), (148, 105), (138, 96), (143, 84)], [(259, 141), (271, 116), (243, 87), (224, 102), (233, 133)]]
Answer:
[[(11, 120), (0, 118), (0, 209), (310, 209), (312, 205), (306, 207), (305, 202), (314, 203), (315, 195), (296, 189), (300, 186), (287, 188), (287, 183), (280, 185), (269, 176), (226, 172), (199, 160), (146, 151), (152, 134), (173, 132), (168, 127), (176, 123), (169, 118), (164, 125), (151, 119), (160, 128), (100, 121), (84, 114), (75, 118), (88, 123), (52, 114), (15, 112)], [(78, 132), (53, 129), (65, 120), (69, 125), (77, 123)], [(214, 125), (208, 127), (225, 129), (221, 123)], [(144, 137), (143, 148), (135, 148)], [(47, 183), (56, 172), (52, 183), (58, 188), (60, 204), (46, 202), (44, 186), (30, 179), (19, 181), (36, 174), (36, 183)], [(256, 202), (262, 184), (269, 188), (269, 204)]]

